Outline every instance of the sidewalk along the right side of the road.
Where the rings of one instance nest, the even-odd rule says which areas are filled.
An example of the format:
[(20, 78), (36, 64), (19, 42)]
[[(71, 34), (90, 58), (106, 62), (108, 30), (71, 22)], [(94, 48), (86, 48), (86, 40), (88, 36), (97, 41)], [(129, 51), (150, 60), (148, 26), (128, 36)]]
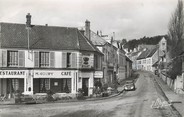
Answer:
[(166, 97), (170, 102), (172, 102), (172, 105), (182, 115), (182, 117), (184, 117), (184, 95), (176, 94), (160, 77), (156, 77), (156, 80), (164, 91)]

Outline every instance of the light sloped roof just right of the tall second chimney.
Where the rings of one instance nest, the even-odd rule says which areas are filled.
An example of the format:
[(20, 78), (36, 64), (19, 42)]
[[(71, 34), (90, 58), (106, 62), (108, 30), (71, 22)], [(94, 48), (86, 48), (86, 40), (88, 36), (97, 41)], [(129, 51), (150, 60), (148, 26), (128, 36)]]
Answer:
[(91, 31), (91, 41), (94, 45), (105, 45), (108, 43), (105, 39), (101, 38), (93, 31)]

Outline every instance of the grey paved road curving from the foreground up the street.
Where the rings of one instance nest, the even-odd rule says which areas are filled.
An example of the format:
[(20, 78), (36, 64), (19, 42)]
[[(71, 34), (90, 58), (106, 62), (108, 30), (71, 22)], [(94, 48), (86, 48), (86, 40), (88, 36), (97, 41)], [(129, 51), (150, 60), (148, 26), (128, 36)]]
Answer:
[(99, 101), (37, 105), (3, 105), (0, 117), (177, 117), (170, 107), (151, 108), (152, 101), (164, 100), (154, 75), (139, 72), (136, 90)]

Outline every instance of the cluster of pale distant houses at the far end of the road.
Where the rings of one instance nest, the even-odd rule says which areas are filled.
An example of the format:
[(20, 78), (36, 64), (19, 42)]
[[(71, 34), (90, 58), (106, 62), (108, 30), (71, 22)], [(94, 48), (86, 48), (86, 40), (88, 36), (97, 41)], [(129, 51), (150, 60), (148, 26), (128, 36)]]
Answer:
[(167, 40), (164, 37), (157, 45), (140, 45), (138, 48), (128, 54), (134, 70), (155, 72), (160, 62), (166, 62)]

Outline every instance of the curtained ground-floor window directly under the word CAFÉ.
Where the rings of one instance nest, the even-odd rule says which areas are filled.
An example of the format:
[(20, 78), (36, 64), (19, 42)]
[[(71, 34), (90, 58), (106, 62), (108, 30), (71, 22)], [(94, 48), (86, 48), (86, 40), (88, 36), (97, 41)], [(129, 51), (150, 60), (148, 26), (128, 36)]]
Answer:
[(63, 93), (71, 93), (71, 79), (62, 79), (62, 92)]

